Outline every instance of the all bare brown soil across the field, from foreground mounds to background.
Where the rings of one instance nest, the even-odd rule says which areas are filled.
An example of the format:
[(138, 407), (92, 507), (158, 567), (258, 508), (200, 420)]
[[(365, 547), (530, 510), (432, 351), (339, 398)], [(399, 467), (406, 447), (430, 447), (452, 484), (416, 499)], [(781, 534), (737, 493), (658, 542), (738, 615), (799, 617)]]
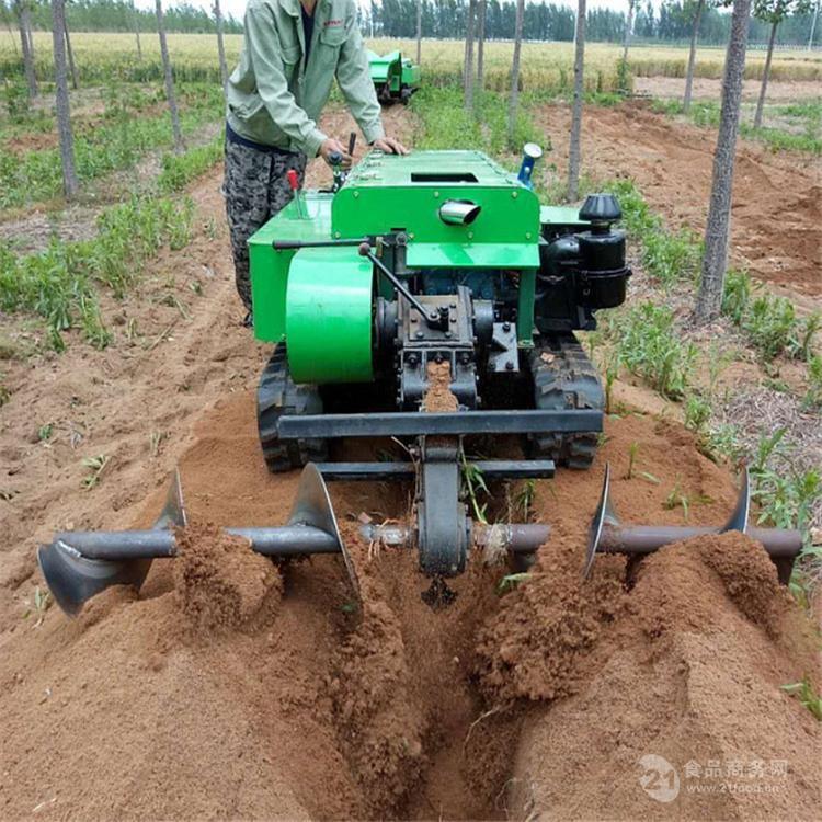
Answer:
[[(505, 46), (495, 47), (502, 65)], [(104, 114), (106, 105), (83, 93), (80, 116)], [(710, 95), (701, 81), (698, 94)], [(653, 95), (665, 96), (660, 87)], [(386, 113), (389, 130), (410, 145), (431, 139), (420, 107), (431, 99), (420, 101)], [(529, 134), (551, 144), (540, 186), (556, 191), (568, 105), (536, 100), (528, 115)], [(194, 141), (210, 145), (216, 122), (205, 117)], [(344, 137), (352, 123), (332, 105), (323, 126)], [(14, 137), (22, 152), (45, 148), (32, 134)], [(663, 219), (657, 233), (701, 230), (711, 128), (628, 101), (589, 107), (584, 135), (587, 186), (630, 178)], [(93, 236), (117, 181), (124, 191), (157, 187), (162, 147), (138, 155), (90, 180), (80, 206), (24, 204), (0, 215), (0, 232), (21, 254), (54, 231), (71, 236), (72, 226)], [(2, 815), (812, 818), (820, 724), (781, 686), (807, 677), (819, 693), (810, 616), (819, 609), (776, 585), (762, 549), (726, 535), (638, 568), (601, 558), (580, 584), (606, 461), (627, 522), (726, 521), (735, 498), (731, 466), (709, 459), (703, 429), (682, 422), (703, 395), (673, 400), (617, 369), (594, 468), (560, 470), (535, 486), (533, 516), (553, 528), (536, 571), (501, 595), (504, 571), (473, 562), (445, 613), (421, 603), (411, 556), (372, 556), (351, 538), (364, 591), (356, 608), (335, 559), (281, 572), (209, 529), (283, 523), (297, 476), (269, 475), (259, 454), (253, 391), (269, 350), (240, 326), (221, 171), (215, 156), (206, 159), (205, 171), (170, 189), (194, 203), (185, 242), (163, 241), (121, 296), (99, 286), (107, 346), (92, 347), (73, 327), (56, 353), (37, 315), (0, 313)], [(309, 167), (310, 185), (329, 176), (320, 163)], [(822, 296), (819, 197), (810, 156), (741, 142), (733, 263), (765, 295), (789, 297), (803, 318)], [(677, 272), (660, 287), (649, 273), (659, 262), (637, 237), (631, 263), (632, 304), (686, 317), (693, 286)], [(710, 384), (717, 413), (735, 415), (753, 443), (776, 420), (799, 443), (790, 458), (822, 464), (820, 414), (801, 400), (806, 363), (763, 362), (727, 318), (708, 332), (683, 320), (682, 333), (698, 349), (695, 381)], [(597, 349), (606, 351), (607, 341)], [(515, 445), (490, 447), (507, 454)], [(198, 540), (191, 557), (157, 561), (139, 596), (111, 590), (77, 620), (49, 607), (37, 544), (65, 528), (147, 526), (174, 466)], [(504, 518), (516, 489), (492, 491), (490, 514)], [(393, 518), (408, 510), (407, 489), (338, 483), (331, 493), (346, 535), (362, 513)], [(819, 500), (810, 505), (820, 516)], [(209, 566), (215, 557), (226, 564)], [(638, 762), (649, 754), (678, 768), (670, 804), (638, 783)]]

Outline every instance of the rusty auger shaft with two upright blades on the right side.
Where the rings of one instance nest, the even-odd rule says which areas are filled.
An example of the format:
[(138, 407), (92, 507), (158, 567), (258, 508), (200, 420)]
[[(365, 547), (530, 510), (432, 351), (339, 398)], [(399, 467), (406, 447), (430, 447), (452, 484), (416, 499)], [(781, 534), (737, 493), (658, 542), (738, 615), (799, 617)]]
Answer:
[(763, 545), (776, 566), (779, 582), (787, 585), (794, 569), (794, 560), (802, 548), (802, 535), (789, 528), (752, 528), (749, 525), (750, 513), (751, 483), (745, 468), (742, 472), (742, 486), (733, 513), (719, 528), (623, 525), (610, 501), (610, 468), (605, 466), (600, 505), (591, 521), (583, 574), (587, 576), (591, 573), (597, 553), (625, 553), (641, 557), (689, 537), (738, 530)]

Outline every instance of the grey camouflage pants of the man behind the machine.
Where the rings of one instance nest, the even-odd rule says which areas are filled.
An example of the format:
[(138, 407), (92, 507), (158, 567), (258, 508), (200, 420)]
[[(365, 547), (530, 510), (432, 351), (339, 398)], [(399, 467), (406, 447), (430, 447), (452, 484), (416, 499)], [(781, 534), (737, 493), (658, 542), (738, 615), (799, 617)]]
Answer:
[(258, 151), (226, 140), (226, 213), (231, 233), (237, 293), (251, 311), (248, 239), (292, 201), (287, 173), (294, 169), (300, 185), (306, 156)]

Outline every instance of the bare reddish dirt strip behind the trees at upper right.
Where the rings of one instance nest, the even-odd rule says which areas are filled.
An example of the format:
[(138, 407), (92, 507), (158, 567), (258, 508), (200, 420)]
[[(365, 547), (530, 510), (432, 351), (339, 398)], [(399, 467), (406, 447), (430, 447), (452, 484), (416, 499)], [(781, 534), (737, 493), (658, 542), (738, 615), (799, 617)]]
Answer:
[[(548, 161), (568, 156), (570, 110), (545, 106)], [(582, 167), (594, 179), (632, 178), (673, 229), (701, 232), (708, 209), (716, 132), (666, 119), (640, 103), (585, 109)], [(822, 296), (822, 187), (818, 163), (741, 141), (733, 190), (731, 256), (760, 279), (806, 305)]]

